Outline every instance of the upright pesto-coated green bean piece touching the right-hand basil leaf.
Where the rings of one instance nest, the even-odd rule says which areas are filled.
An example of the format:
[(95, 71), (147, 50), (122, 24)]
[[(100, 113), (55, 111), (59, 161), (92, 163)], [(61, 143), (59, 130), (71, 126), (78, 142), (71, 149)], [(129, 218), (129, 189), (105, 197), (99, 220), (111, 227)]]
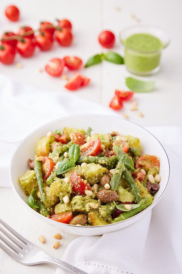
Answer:
[(121, 175), (123, 170), (125, 169), (124, 167), (124, 163), (126, 161), (127, 155), (123, 155), (121, 156), (119, 162), (117, 163), (117, 166), (114, 170), (113, 176), (111, 178), (111, 182), (110, 182), (110, 189), (111, 190), (118, 190), (118, 186), (120, 183), (120, 179), (121, 179)]

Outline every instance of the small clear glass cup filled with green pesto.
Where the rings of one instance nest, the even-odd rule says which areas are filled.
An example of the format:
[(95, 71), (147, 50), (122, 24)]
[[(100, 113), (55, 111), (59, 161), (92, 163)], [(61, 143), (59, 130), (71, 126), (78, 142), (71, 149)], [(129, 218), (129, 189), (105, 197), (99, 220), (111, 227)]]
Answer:
[(170, 39), (161, 27), (139, 25), (125, 28), (120, 33), (120, 41), (124, 45), (127, 69), (144, 76), (159, 71), (161, 51)]

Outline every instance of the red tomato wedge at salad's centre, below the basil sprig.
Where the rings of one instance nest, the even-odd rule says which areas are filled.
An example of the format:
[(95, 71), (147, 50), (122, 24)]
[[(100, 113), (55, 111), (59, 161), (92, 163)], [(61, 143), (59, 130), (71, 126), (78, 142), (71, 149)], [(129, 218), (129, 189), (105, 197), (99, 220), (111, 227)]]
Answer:
[(91, 186), (86, 184), (86, 182), (76, 173), (76, 171), (71, 173), (70, 183), (73, 187), (73, 191), (77, 195), (85, 195), (85, 190), (91, 189)]

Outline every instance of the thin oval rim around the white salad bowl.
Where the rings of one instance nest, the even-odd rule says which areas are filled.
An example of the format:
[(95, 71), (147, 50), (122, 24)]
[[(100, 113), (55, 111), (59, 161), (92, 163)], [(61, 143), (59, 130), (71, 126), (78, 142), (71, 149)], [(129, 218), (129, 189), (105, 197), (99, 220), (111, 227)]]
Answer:
[[(43, 218), (44, 220), (45, 220), (46, 217), (43, 216), (43, 215), (41, 215), (40, 213), (36, 212), (36, 211), (35, 211), (34, 209), (32, 209), (31, 207), (29, 207), (28, 204), (26, 204), (26, 202), (23, 201), (23, 199), (22, 199), (22, 198), (20, 197), (20, 195), (17, 193), (16, 188), (14, 187), (13, 180), (12, 180), (12, 178), (11, 178), (11, 168), (12, 168), (12, 165), (13, 165), (14, 155), (16, 154), (17, 150), (18, 150), (19, 147), (22, 145), (22, 143), (23, 143), (30, 135), (32, 135), (32, 134), (33, 134), (35, 131), (37, 131), (38, 129), (40, 130), (40, 129), (41, 129), (42, 127), (44, 127), (45, 125), (49, 125), (49, 124), (51, 124), (52, 122), (60, 121), (60, 120), (63, 120), (63, 119), (65, 119), (65, 118), (68, 118), (68, 117), (98, 116), (98, 115), (99, 115), (99, 116), (103, 116), (103, 117), (105, 117), (105, 118), (106, 118), (106, 117), (111, 117), (111, 118), (119, 118), (119, 119), (122, 119), (122, 120), (126, 120), (126, 119), (124, 119), (124, 118), (122, 118), (122, 117), (118, 117), (118, 116), (114, 116), (114, 115), (104, 115), (104, 114), (76, 114), (76, 115), (68, 115), (68, 116), (64, 116), (64, 117), (61, 117), (61, 118), (52, 120), (52, 121), (50, 121), (50, 122), (47, 122), (47, 123), (41, 125), (40, 127), (34, 129), (34, 130), (33, 130), (31, 133), (29, 133), (29, 134), (20, 142), (20, 144), (16, 147), (16, 149), (15, 149), (15, 151), (14, 151), (12, 157), (11, 157), (10, 168), (9, 168), (9, 178), (10, 178), (10, 182), (11, 182), (11, 187), (12, 187), (13, 191), (15, 192), (15, 194), (18, 196), (18, 198), (23, 202), (23, 204), (24, 204), (29, 210), (31, 210), (31, 212), (36, 213), (37, 216)], [(121, 222), (125, 222), (125, 221), (128, 221), (129, 219), (135, 218), (136, 216), (145, 215), (148, 211), (150, 211), (150, 210), (155, 206), (155, 204), (162, 198), (163, 194), (164, 194), (165, 191), (166, 191), (166, 188), (167, 188), (168, 183), (169, 183), (170, 164), (169, 164), (168, 155), (167, 155), (167, 153), (166, 153), (166, 151), (165, 151), (163, 145), (159, 142), (159, 140), (158, 140), (152, 133), (150, 133), (147, 129), (145, 129), (145, 128), (142, 127), (141, 125), (138, 125), (138, 124), (136, 124), (136, 123), (134, 123), (134, 122), (132, 122), (132, 121), (129, 121), (129, 120), (127, 120), (127, 122), (129, 122), (129, 123), (131, 123), (131, 124), (135, 124), (135, 125), (141, 127), (143, 130), (147, 131), (147, 132), (148, 132), (150, 135), (152, 135), (152, 136), (157, 140), (157, 142), (162, 146), (162, 148), (163, 148), (163, 150), (164, 150), (164, 152), (165, 152), (165, 154), (166, 154), (166, 156), (167, 156), (168, 165), (169, 165), (169, 175), (168, 175), (168, 181), (167, 181), (167, 183), (166, 183), (165, 189), (163, 190), (163, 192), (161, 193), (161, 195), (160, 195), (160, 196), (159, 196), (159, 197), (158, 197), (158, 198), (157, 198), (149, 207), (147, 207), (147, 208), (144, 209), (143, 211), (137, 213), (136, 215), (134, 215), (134, 216), (132, 216), (132, 217), (130, 217), (130, 218), (128, 218), (128, 219), (125, 219), (125, 220), (122, 220), (122, 221), (119, 221), (119, 222), (115, 222), (115, 223), (112, 223), (112, 224), (102, 225), (102, 226), (79, 226), (79, 228), (81, 228), (81, 227), (83, 228), (83, 227), (84, 227), (84, 228), (89, 228), (89, 229), (91, 229), (91, 228), (96, 228), (96, 227), (114, 226), (114, 225), (119, 224), (119, 223), (121, 223)], [(47, 218), (47, 220), (49, 220), (48, 222), (50, 222), (50, 224), (55, 224), (55, 221), (54, 221), (54, 220), (51, 220), (51, 219), (49, 219), (49, 218)], [(64, 223), (59, 223), (59, 222), (57, 222), (57, 225), (58, 225), (58, 224), (60, 224), (60, 228), (61, 228), (61, 226), (65, 226), (65, 227), (66, 227), (66, 226), (71, 226), (71, 227), (77, 227), (77, 228), (78, 228), (78, 226), (76, 226), (76, 225), (64, 224)]]

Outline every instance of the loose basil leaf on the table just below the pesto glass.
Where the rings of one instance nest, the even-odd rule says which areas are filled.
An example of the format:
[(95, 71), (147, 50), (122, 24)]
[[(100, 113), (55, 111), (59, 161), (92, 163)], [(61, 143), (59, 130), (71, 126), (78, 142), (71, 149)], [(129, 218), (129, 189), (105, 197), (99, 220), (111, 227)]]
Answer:
[(132, 77), (126, 78), (126, 85), (135, 92), (150, 92), (153, 90), (155, 81), (140, 81)]

